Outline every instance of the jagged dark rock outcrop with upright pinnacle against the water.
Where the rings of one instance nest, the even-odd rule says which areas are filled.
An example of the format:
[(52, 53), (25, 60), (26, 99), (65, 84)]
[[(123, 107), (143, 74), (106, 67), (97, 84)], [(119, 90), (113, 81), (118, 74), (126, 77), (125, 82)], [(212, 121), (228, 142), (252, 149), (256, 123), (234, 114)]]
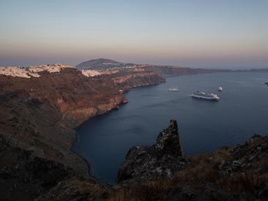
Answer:
[(132, 147), (117, 174), (119, 183), (135, 184), (159, 177), (172, 178), (175, 171), (188, 163), (182, 157), (177, 121), (170, 120), (170, 126), (157, 137), (153, 146)]

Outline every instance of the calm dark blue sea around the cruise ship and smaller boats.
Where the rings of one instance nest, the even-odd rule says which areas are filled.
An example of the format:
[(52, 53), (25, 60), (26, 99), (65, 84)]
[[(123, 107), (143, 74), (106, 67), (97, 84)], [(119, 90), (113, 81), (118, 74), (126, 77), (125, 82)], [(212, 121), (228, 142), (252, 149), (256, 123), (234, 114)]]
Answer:
[[(77, 128), (73, 149), (89, 161), (91, 174), (113, 183), (128, 149), (154, 144), (177, 119), (185, 155), (214, 151), (244, 142), (254, 133), (267, 135), (268, 73), (214, 73), (167, 77), (165, 84), (131, 89), (128, 104), (94, 117)], [(176, 84), (178, 92), (167, 89)], [(218, 92), (218, 86), (223, 92)], [(221, 101), (196, 100), (192, 91), (214, 92)]]

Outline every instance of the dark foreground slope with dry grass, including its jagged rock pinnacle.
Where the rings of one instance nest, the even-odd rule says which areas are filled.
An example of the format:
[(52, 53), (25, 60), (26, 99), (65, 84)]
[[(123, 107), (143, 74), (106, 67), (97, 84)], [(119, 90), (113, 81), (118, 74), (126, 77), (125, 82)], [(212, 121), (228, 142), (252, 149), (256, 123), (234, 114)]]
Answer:
[(68, 179), (37, 200), (267, 200), (267, 161), (268, 137), (260, 135), (214, 153), (182, 156), (172, 120), (156, 144), (128, 151), (117, 185)]

